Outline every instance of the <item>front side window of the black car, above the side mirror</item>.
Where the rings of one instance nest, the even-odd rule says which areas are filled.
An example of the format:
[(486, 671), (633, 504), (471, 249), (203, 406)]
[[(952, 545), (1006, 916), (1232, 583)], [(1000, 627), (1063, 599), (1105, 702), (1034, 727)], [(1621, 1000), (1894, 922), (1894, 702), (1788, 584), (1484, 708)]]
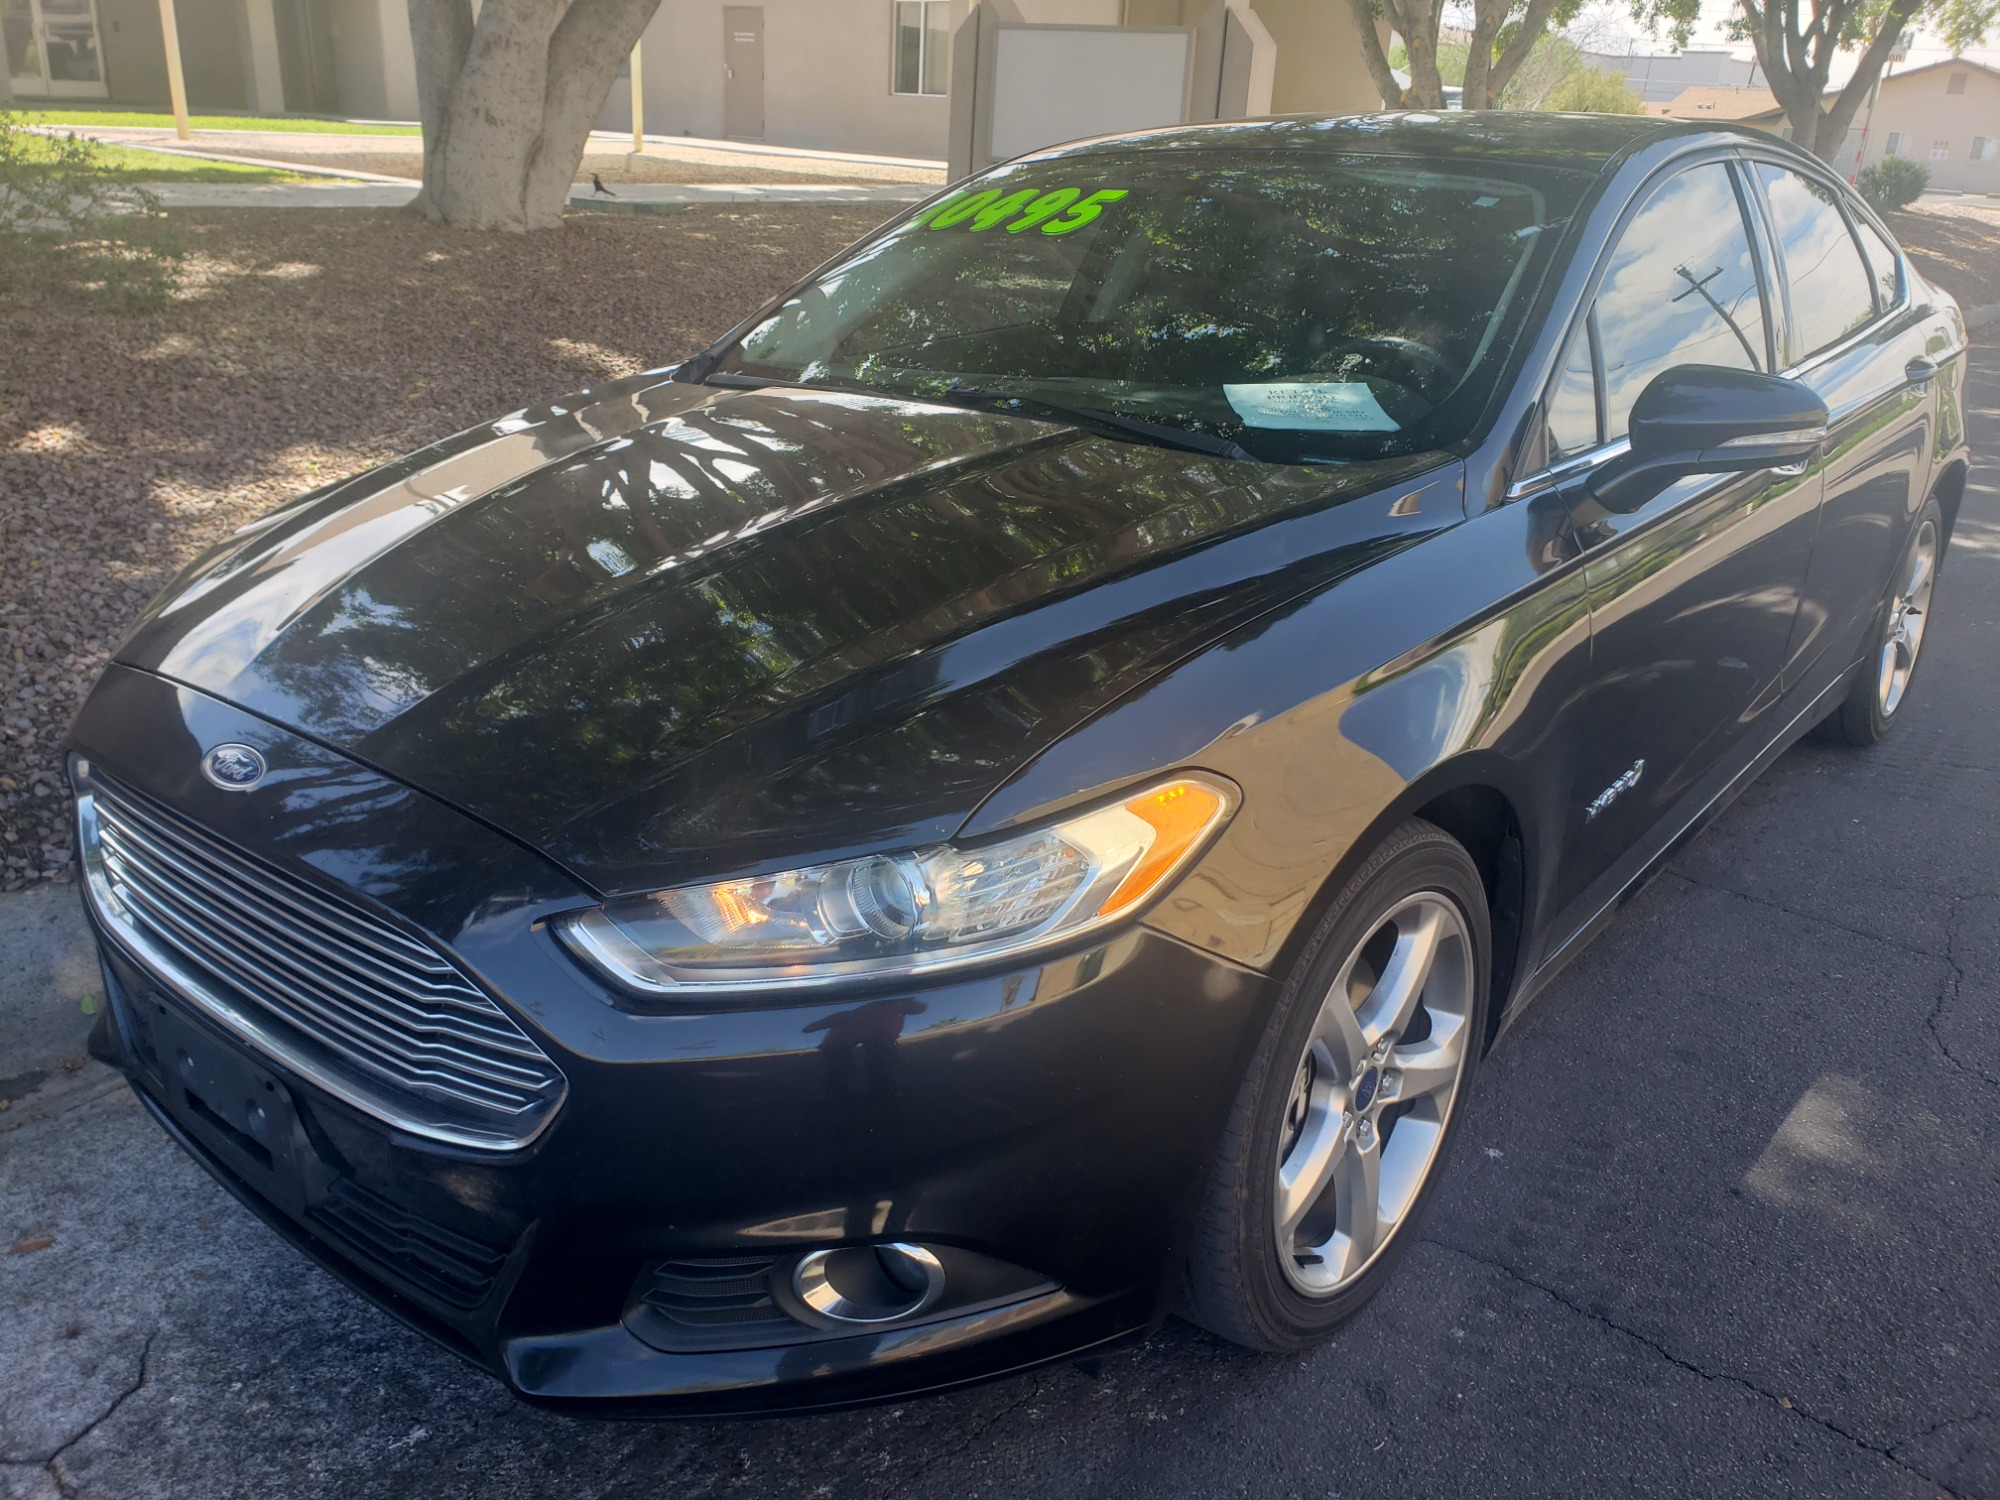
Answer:
[(1626, 434), (1632, 402), (1662, 370), (1766, 366), (1756, 258), (1722, 162), (1682, 172), (1626, 224), (1596, 306), (1606, 440)]

